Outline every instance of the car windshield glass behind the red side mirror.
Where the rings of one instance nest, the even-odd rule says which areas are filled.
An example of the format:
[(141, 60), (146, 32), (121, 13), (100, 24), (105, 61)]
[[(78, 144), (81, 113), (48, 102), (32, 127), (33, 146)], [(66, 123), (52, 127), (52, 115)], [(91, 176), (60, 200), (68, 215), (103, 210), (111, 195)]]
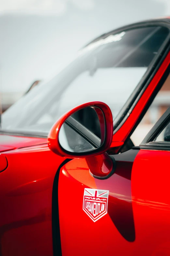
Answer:
[(143, 27), (89, 44), (56, 77), (39, 83), (5, 111), (1, 130), (47, 136), (61, 115), (90, 101), (105, 102), (114, 119), (168, 33), (165, 27)]

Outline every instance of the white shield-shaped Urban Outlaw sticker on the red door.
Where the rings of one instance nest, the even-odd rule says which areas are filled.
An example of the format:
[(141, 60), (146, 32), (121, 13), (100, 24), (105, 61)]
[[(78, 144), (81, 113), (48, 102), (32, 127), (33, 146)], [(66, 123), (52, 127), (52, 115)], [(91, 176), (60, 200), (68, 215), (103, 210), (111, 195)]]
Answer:
[(83, 211), (96, 222), (107, 214), (109, 190), (85, 188)]

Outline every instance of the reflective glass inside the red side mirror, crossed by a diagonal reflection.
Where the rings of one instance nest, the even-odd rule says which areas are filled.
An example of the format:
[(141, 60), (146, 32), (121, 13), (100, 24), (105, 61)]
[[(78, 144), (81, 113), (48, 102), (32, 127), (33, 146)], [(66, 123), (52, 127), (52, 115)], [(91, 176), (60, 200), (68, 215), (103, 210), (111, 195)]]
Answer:
[(105, 118), (97, 107), (82, 108), (67, 118), (59, 131), (59, 143), (68, 152), (100, 148), (105, 140)]

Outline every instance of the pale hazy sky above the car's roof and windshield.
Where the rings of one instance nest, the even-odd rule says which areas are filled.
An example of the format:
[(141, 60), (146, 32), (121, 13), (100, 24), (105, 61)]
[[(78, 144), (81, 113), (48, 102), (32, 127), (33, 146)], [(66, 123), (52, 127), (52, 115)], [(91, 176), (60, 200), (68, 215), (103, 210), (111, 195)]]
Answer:
[(169, 0), (0, 0), (0, 91), (25, 92), (95, 37), (168, 15)]

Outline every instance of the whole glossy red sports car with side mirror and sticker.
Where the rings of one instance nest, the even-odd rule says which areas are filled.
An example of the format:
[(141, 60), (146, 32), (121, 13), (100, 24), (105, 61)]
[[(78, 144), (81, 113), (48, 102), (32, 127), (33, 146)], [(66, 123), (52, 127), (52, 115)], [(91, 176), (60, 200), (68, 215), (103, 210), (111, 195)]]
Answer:
[(170, 255), (169, 74), (170, 18), (136, 23), (3, 113), (1, 256)]

